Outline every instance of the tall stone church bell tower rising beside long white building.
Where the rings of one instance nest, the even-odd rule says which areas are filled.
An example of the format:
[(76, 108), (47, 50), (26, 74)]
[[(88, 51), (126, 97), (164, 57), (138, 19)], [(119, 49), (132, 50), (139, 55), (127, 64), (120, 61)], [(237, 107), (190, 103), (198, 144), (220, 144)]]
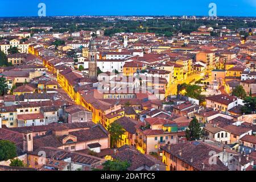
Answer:
[(90, 78), (97, 78), (97, 48), (95, 40), (90, 40), (89, 45), (89, 77)]

